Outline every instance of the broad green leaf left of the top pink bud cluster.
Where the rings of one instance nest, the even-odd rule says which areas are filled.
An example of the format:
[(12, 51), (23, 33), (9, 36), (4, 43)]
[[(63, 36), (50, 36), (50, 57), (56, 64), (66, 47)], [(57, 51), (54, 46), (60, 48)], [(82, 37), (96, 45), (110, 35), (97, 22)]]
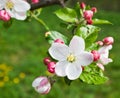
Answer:
[(65, 22), (73, 23), (77, 21), (77, 14), (75, 10), (71, 8), (66, 7), (66, 8), (59, 9), (55, 12), (55, 14), (57, 15), (57, 17), (59, 17)]

